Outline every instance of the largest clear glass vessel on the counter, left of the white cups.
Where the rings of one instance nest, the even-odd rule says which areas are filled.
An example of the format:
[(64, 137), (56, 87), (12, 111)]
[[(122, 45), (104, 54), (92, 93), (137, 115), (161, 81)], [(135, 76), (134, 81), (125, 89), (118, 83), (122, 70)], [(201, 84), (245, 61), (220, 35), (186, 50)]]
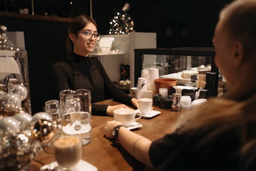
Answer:
[(91, 91), (63, 90), (59, 93), (59, 98), (62, 109), (62, 135), (79, 137), (83, 145), (91, 142)]

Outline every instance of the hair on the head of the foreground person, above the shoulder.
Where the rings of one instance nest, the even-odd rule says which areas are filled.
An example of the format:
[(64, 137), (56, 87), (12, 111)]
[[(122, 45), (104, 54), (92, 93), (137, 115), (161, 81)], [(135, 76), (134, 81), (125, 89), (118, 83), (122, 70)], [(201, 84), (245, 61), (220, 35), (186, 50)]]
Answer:
[(237, 0), (220, 12), (230, 38), (242, 42), (246, 57), (256, 54), (256, 1)]

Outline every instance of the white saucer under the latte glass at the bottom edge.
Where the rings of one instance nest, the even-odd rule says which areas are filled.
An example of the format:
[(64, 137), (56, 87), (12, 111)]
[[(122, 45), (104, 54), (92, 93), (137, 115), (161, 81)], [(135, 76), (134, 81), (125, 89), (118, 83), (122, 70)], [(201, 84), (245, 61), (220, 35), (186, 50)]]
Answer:
[[(40, 170), (45, 170), (47, 168), (54, 169), (57, 166), (58, 166), (58, 163), (56, 161), (54, 161), (50, 164), (42, 166), (40, 168)], [(77, 171), (82, 171), (84, 169), (86, 169), (87, 171), (97, 171), (98, 170), (97, 167), (95, 167), (94, 165), (92, 165), (84, 160), (80, 160), (79, 163), (77, 163), (77, 165), (75, 167), (76, 167)]]

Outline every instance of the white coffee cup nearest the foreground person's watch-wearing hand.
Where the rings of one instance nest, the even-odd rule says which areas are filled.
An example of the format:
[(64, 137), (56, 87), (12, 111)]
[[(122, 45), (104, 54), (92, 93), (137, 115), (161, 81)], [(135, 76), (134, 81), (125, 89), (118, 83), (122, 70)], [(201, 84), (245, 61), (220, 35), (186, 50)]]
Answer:
[[(135, 116), (139, 114), (138, 118), (135, 118)], [(141, 118), (141, 112), (135, 111), (132, 109), (116, 109), (114, 110), (114, 119), (115, 121), (122, 122), (124, 126), (130, 126), (133, 122), (139, 120)]]

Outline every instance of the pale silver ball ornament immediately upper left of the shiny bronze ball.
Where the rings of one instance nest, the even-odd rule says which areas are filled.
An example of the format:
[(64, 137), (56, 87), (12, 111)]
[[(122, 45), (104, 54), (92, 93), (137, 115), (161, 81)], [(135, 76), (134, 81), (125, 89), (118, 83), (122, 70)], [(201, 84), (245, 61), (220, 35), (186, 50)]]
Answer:
[(13, 117), (19, 121), (20, 129), (22, 131), (30, 129), (31, 121), (32, 121), (32, 116), (30, 114), (26, 112), (19, 112)]

